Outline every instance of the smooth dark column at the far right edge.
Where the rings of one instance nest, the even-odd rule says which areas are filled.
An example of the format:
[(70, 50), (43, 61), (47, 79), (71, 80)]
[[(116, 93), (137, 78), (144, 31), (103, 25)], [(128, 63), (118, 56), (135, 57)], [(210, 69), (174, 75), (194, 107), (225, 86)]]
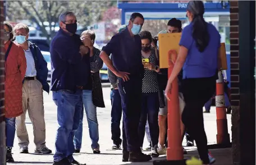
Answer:
[(240, 164), (255, 164), (255, 1), (239, 1)]

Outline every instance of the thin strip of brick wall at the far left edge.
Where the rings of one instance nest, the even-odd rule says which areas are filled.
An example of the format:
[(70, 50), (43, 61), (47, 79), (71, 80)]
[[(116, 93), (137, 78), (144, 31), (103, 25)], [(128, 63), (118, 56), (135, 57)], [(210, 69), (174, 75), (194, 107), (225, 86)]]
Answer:
[(3, 48), (3, 40), (1, 36), (3, 36), (3, 21), (4, 21), (4, 8), (3, 1), (0, 1), (0, 123), (3, 121), (4, 115), (4, 48)]

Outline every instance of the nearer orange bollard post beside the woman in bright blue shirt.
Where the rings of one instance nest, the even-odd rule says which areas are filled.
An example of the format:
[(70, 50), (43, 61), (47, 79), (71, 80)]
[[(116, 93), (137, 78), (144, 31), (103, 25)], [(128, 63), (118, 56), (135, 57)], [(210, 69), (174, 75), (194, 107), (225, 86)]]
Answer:
[[(177, 59), (176, 51), (170, 50), (169, 54), (169, 65), (168, 77), (170, 77), (173, 70), (174, 63)], [(180, 104), (179, 104), (179, 88), (178, 80), (172, 82), (171, 93), (168, 93), (170, 100), (168, 100), (168, 148), (167, 148), (167, 161), (183, 160), (183, 149), (181, 146), (182, 139), (180, 134)]]

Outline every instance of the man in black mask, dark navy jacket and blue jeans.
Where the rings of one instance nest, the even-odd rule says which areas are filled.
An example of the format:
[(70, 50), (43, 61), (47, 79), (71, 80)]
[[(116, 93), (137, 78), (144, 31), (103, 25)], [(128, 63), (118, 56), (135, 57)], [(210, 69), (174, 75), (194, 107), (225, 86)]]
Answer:
[(90, 85), (89, 49), (76, 35), (77, 20), (73, 12), (60, 15), (60, 30), (52, 39), (53, 100), (57, 105), (58, 130), (54, 165), (81, 164), (74, 160), (74, 134), (83, 111), (83, 88)]

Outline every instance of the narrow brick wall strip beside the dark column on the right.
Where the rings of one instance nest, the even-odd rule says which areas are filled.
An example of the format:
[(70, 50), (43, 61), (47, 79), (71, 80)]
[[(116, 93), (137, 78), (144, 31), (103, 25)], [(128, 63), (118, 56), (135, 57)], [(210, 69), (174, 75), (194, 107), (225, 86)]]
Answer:
[(239, 106), (239, 22), (238, 1), (230, 1), (231, 105)]

